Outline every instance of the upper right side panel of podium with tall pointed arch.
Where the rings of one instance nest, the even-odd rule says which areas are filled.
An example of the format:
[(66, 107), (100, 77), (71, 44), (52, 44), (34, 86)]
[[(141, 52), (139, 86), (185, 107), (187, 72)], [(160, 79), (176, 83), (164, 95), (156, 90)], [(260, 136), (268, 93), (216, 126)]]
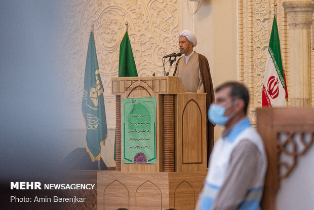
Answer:
[(175, 171), (206, 170), (205, 94), (175, 95)]

